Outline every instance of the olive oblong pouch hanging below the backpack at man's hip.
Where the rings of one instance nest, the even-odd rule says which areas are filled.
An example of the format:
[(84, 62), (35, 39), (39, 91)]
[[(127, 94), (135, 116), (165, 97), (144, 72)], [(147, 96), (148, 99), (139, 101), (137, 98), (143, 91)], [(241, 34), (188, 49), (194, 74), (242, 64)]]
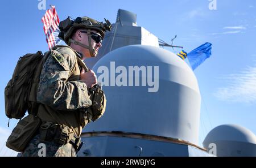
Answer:
[(6, 147), (15, 150), (16, 152), (22, 152), (30, 140), (35, 136), (38, 131), (41, 120), (35, 115), (28, 115), (21, 119), (13, 132), (7, 139)]

